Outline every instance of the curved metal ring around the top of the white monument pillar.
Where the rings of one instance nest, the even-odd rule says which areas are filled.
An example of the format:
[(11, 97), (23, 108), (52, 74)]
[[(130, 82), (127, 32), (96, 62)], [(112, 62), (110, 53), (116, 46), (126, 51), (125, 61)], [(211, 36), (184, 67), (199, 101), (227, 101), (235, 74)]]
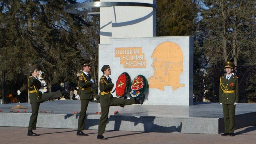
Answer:
[(100, 8), (100, 7), (112, 7), (112, 6), (138, 6), (138, 7), (151, 7), (157, 9), (156, 4), (139, 3), (139, 2), (85, 2), (77, 4), (69, 4), (64, 6), (64, 12), (78, 15), (91, 15), (100, 16), (100, 12), (87, 12), (76, 10), (78, 8)]

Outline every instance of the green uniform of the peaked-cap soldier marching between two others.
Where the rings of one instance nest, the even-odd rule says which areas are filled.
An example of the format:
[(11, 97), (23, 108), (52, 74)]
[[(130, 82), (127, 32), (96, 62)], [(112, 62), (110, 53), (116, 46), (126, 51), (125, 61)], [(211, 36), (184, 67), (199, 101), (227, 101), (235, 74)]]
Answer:
[(99, 100), (94, 100), (94, 97), (97, 96), (96, 93), (93, 93), (92, 91), (92, 84), (93, 82), (91, 80), (91, 76), (86, 75), (84, 72), (79, 76), (78, 80), (78, 95), (80, 96), (81, 101), (81, 111), (78, 118), (78, 131), (84, 130), (85, 125), (85, 115), (86, 110), (89, 104), (89, 101), (91, 102), (100, 102)]

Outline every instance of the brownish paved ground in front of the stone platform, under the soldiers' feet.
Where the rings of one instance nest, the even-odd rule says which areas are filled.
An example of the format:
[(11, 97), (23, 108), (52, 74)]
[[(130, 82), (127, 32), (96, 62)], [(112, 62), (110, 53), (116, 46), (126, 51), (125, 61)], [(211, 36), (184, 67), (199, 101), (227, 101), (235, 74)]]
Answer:
[(27, 127), (0, 127), (1, 144), (30, 144), (30, 143), (173, 143), (173, 144), (255, 144), (256, 126), (245, 127), (235, 131), (236, 136), (221, 136), (220, 134), (185, 134), (185, 133), (154, 133), (130, 131), (105, 131), (108, 140), (98, 140), (97, 130), (84, 130), (89, 136), (76, 136), (74, 129), (37, 128), (33, 132), (40, 136), (27, 136)]

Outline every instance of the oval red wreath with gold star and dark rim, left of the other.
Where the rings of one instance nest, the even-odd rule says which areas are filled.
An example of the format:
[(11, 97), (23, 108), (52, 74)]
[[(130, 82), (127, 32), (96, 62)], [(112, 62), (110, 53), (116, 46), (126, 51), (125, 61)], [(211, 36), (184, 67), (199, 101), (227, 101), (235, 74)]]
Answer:
[(128, 73), (122, 73), (116, 81), (116, 96), (123, 97), (126, 95), (127, 87), (130, 84), (130, 76)]

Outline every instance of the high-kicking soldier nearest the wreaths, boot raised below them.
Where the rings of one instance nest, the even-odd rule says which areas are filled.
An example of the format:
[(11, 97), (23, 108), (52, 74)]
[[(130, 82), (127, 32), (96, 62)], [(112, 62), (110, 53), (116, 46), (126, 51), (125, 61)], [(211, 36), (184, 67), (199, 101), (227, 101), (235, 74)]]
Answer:
[(124, 105), (131, 105), (131, 104), (143, 104), (145, 96), (143, 95), (140, 98), (132, 98), (132, 99), (121, 99), (116, 98), (111, 95), (112, 88), (114, 84), (111, 81), (109, 75), (111, 75), (111, 69), (109, 65), (104, 65), (101, 68), (103, 72), (103, 76), (100, 78), (99, 82), (99, 89), (100, 89), (100, 107), (101, 107), (101, 117), (99, 121), (99, 128), (98, 128), (98, 136), (97, 139), (107, 140), (103, 136), (105, 131), (107, 121), (108, 121), (108, 112), (110, 106), (124, 106)]

